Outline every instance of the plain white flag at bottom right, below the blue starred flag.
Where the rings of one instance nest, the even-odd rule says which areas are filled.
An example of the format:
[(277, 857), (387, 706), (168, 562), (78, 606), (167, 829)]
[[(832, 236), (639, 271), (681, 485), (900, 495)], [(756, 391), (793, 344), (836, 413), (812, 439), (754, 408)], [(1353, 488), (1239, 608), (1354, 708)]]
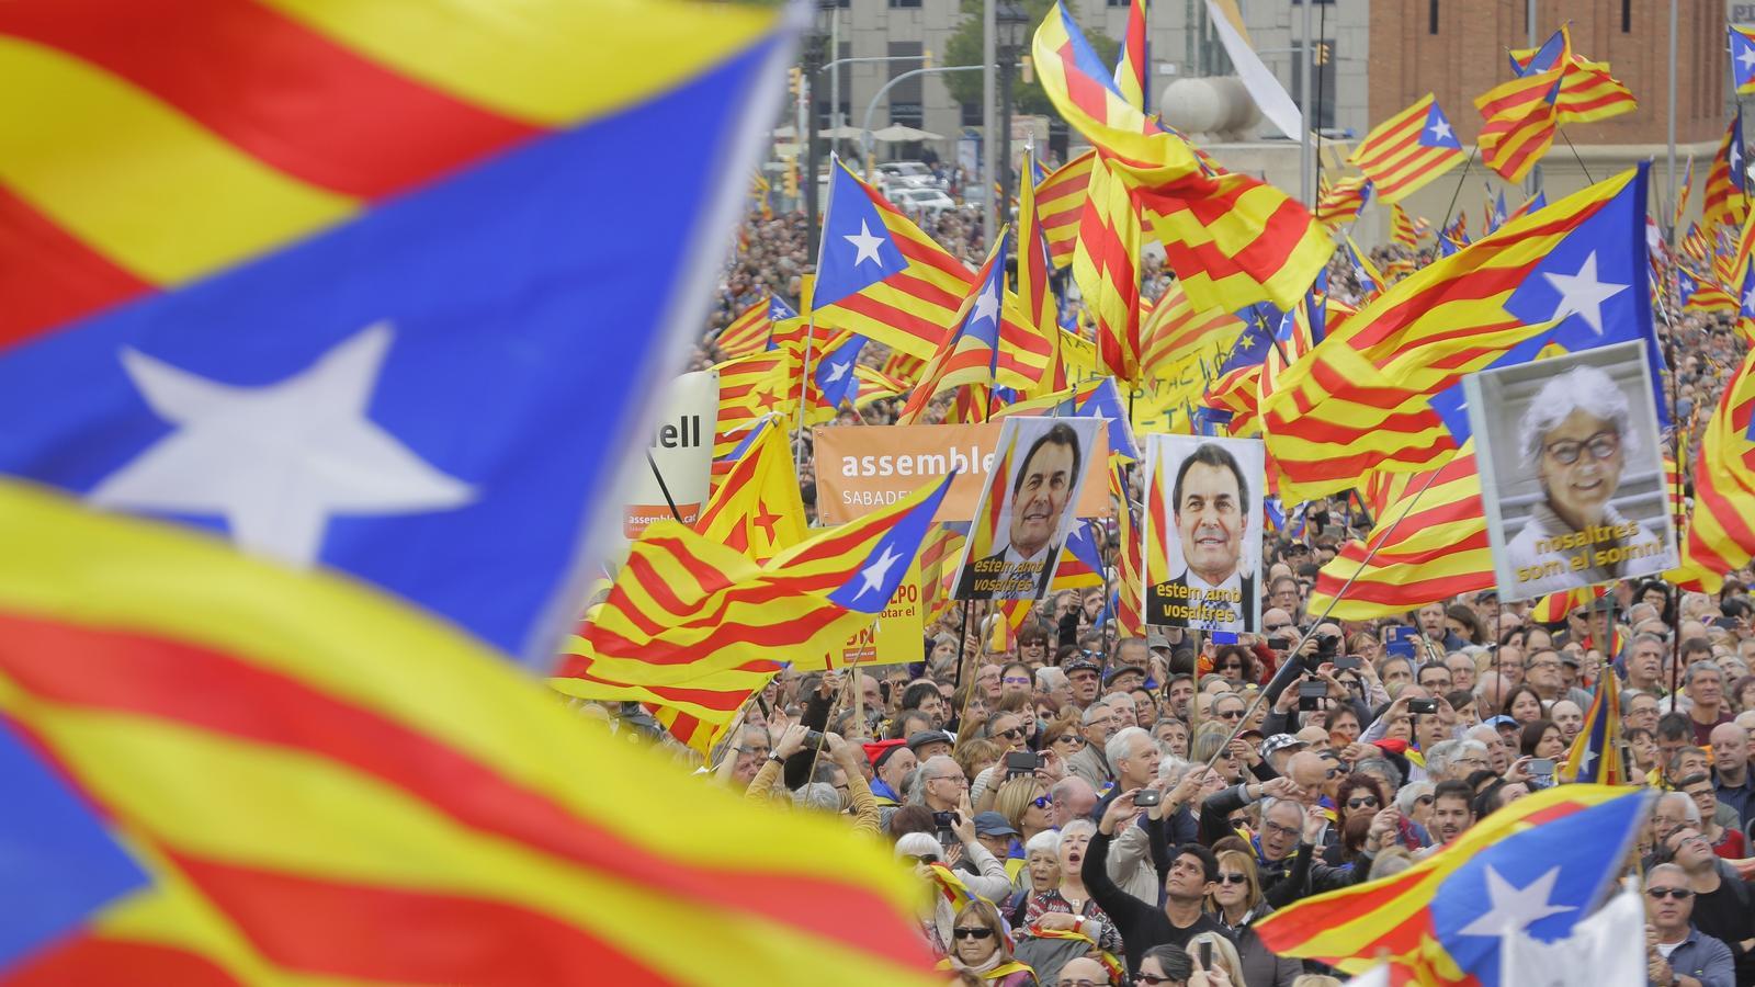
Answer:
[(1501, 987), (1644, 987), (1644, 904), (1623, 889), (1572, 934), (1544, 943), (1511, 933), (1499, 947)]

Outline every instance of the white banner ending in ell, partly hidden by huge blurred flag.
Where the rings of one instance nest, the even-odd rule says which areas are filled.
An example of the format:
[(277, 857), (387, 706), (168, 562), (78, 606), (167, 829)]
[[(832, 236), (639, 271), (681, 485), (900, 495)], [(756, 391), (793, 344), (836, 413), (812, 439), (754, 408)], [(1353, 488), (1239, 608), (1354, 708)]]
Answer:
[[(621, 537), (634, 541), (653, 522), (670, 520), (670, 504), (684, 525), (700, 518), (713, 471), (713, 423), (720, 413), (720, 372), (683, 374), (665, 388), (663, 409), (644, 457), (627, 478)], [(663, 478), (660, 486), (658, 478)], [(669, 501), (665, 494), (669, 492)], [(627, 546), (621, 546), (621, 555)]]

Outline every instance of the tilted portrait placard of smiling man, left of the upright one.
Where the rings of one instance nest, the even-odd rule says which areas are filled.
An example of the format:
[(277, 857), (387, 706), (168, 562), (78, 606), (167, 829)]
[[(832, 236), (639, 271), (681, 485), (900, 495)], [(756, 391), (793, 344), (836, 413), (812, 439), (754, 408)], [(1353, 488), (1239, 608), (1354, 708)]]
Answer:
[(1055, 578), (1060, 546), (1085, 465), (1097, 450), (1097, 418), (1007, 418), (988, 485), (981, 490), (956, 569), (956, 599), (1041, 599)]

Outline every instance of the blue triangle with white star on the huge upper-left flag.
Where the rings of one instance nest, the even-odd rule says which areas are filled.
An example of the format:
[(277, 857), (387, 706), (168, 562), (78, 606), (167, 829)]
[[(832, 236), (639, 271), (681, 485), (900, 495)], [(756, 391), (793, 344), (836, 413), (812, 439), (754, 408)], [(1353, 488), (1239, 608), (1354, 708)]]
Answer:
[[(579, 546), (620, 513), (704, 311), (702, 244), (748, 193), (734, 160), (753, 162), (783, 46), (0, 342), (0, 474), (340, 573), (551, 666)], [(695, 151), (616, 153), (674, 148), (677, 121)]]

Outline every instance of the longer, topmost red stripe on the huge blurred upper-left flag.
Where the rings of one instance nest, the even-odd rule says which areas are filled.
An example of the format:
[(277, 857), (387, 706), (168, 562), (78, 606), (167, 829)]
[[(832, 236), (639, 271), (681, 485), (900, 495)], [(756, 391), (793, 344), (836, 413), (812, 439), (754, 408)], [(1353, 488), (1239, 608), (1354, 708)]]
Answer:
[[(302, 181), (381, 198), (539, 128), (362, 56), (260, 4), (11, 0), (0, 32), (128, 79)], [(70, 16), (72, 14), (72, 16)], [(288, 97), (288, 79), (302, 83)]]

